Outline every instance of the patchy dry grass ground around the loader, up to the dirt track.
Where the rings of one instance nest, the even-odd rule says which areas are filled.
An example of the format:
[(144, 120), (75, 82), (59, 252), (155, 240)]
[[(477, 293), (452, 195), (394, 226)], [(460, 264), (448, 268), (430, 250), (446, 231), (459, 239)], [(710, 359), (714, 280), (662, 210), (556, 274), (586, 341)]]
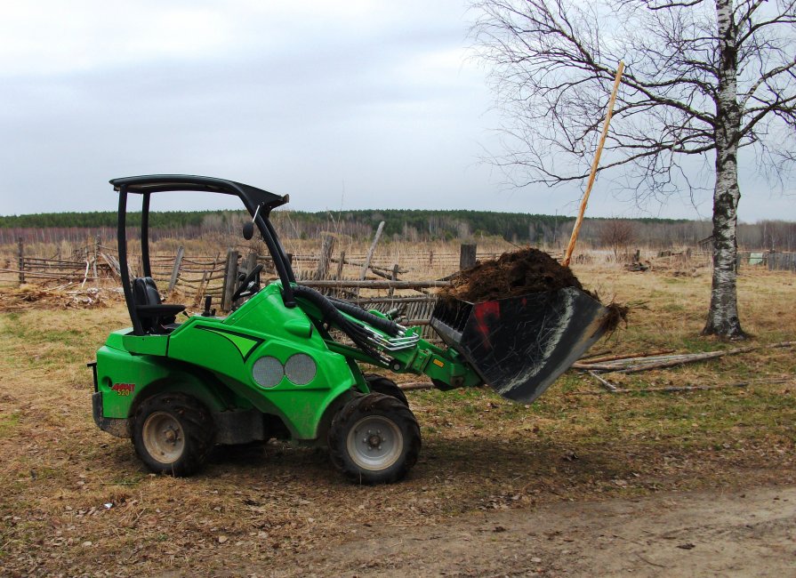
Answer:
[[(595, 265), (575, 273), (604, 300), (644, 303), (595, 350), (737, 346), (699, 337), (707, 269), (675, 277)], [(744, 269), (739, 298), (752, 343), (794, 339), (792, 273)], [(110, 330), (128, 322), (120, 301), (0, 312), (0, 574), (406, 575), (377, 550), (341, 549), (384, 536), (432, 540), (482, 513), (530, 517), (563, 502), (671, 491), (710, 500), (733, 488), (796, 484), (793, 349), (611, 378), (626, 389), (744, 387), (611, 394), (570, 371), (533, 405), (489, 389), (409, 392), (422, 454), (393, 486), (350, 485), (324, 451), (273, 442), (218, 451), (194, 478), (157, 477), (128, 441), (92, 422), (85, 363)], [(501, 527), (485, 539), (494, 550), (502, 548)], [(335, 558), (340, 551), (347, 562)], [(783, 555), (792, 562), (792, 551)], [(567, 567), (533, 559), (528, 574)], [(482, 574), (468, 572), (448, 575)]]

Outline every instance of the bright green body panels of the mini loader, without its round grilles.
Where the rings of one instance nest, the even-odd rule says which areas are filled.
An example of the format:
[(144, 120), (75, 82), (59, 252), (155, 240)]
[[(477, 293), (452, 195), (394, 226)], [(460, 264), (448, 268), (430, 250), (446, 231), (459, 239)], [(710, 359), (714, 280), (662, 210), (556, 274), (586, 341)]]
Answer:
[[(285, 308), (278, 284), (226, 318), (189, 317), (169, 335), (129, 332), (111, 333), (97, 355), (104, 417), (129, 417), (134, 400), (157, 383), (158, 391), (196, 395), (212, 411), (256, 407), (281, 418), (293, 438), (309, 440), (318, 437), (335, 399), (352, 387), (367, 390), (357, 365), (326, 347), (303, 310)], [(138, 355), (149, 353), (157, 355)], [(295, 384), (284, 374), (272, 387), (254, 380), (253, 365), (261, 357), (275, 357), (284, 366), (298, 353), (315, 362), (308, 383)], [(115, 384), (122, 385), (113, 389)]]

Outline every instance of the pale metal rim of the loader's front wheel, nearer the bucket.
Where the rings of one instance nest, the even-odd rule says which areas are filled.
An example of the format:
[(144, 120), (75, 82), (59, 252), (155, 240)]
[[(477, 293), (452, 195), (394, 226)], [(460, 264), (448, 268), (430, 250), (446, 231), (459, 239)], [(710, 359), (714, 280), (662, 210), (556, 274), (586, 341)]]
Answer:
[(382, 415), (369, 415), (350, 429), (346, 449), (362, 470), (386, 470), (398, 462), (404, 437), (394, 421)]

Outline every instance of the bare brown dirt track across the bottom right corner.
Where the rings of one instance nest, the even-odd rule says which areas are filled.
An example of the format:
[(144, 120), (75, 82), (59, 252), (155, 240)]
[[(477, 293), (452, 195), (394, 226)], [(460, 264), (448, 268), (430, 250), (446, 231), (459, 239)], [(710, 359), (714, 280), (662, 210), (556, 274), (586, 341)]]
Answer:
[(408, 534), (363, 527), (273, 576), (793, 576), (796, 486), (662, 493), (470, 515)]

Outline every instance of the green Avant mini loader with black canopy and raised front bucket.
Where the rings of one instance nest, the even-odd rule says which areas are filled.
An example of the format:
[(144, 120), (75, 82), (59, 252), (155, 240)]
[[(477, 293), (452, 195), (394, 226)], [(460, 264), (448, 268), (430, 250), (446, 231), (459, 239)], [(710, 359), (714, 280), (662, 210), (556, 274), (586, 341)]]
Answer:
[[(110, 182), (119, 195), (119, 264), (133, 326), (110, 333), (89, 364), (93, 418), (132, 438), (154, 472), (187, 476), (214, 445), (284, 438), (327, 444), (334, 466), (355, 482), (394, 482), (417, 460), (420, 429), (396, 384), (360, 364), (424, 373), (438, 389), (487, 383), (529, 403), (605, 330), (607, 309), (574, 288), (479, 303), (440, 300), (431, 319), (447, 346), (439, 348), (389, 314), (297, 284), (269, 221), (287, 196), (187, 175)], [(165, 191), (239, 197), (253, 219), (244, 237), (259, 230), (278, 279), (261, 287), (262, 266), (253, 268), (233, 297), (248, 299), (226, 317), (207, 298), (204, 312), (189, 317), (185, 306), (161, 302), (149, 264), (149, 201)], [(142, 198), (142, 271), (134, 278), (130, 195)]]

